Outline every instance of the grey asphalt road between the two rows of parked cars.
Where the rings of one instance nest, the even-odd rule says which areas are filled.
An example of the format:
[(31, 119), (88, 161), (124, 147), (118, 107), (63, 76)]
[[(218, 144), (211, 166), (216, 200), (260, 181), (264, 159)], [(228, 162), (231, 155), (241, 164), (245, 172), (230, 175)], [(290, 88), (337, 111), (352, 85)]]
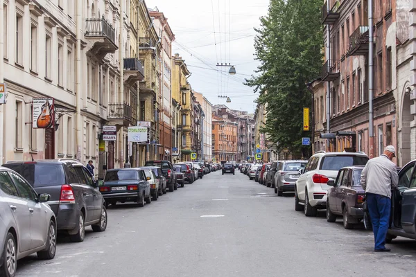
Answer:
[[(29, 256), (17, 276), (415, 276), (416, 241), (374, 253), (372, 233), (295, 212), (238, 170), (206, 175), (144, 208), (108, 209), (104, 233), (58, 241), (54, 260)], [(220, 217), (201, 217), (222, 215)]]

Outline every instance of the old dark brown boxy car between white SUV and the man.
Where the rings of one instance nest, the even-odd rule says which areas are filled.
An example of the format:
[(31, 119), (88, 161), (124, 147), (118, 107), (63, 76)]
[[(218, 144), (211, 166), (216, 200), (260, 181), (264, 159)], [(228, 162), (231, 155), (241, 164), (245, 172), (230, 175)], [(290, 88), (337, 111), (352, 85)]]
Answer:
[(345, 229), (354, 228), (363, 219), (365, 191), (361, 187), (361, 171), (364, 166), (341, 168), (336, 180), (327, 182), (327, 222), (335, 222), (337, 215), (343, 216)]

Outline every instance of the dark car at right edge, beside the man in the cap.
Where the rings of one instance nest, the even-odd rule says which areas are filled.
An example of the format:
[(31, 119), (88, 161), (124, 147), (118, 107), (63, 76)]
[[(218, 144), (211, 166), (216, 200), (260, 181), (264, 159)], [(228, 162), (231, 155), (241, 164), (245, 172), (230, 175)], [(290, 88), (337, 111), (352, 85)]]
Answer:
[[(410, 161), (399, 171), (397, 190), (392, 190), (390, 226), (385, 242), (399, 237), (416, 240), (416, 160)], [(365, 229), (372, 229), (370, 215), (365, 212)]]

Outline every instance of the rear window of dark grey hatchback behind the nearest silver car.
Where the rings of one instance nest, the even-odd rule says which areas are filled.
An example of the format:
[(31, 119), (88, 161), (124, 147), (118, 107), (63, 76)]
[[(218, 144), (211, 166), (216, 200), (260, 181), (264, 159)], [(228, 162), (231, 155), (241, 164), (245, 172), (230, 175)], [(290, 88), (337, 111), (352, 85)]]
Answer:
[(60, 163), (23, 163), (5, 165), (24, 177), (33, 188), (65, 184), (64, 167)]

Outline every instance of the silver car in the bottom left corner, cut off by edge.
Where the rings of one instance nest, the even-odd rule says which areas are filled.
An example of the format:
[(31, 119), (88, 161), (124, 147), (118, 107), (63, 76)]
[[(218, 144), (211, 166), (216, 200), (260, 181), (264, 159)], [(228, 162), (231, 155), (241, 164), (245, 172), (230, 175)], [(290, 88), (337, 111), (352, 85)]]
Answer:
[(15, 276), (17, 260), (33, 253), (51, 260), (56, 252), (56, 218), (28, 182), (8, 168), (0, 168), (0, 276)]

